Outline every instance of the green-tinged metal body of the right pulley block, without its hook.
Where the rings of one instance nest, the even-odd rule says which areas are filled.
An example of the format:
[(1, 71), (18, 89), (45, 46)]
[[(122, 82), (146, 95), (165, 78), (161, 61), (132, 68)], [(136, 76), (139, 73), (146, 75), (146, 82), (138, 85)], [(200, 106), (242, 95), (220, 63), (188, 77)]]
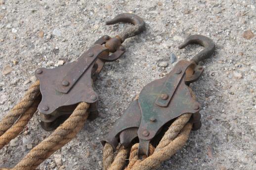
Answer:
[[(131, 102), (102, 143), (107, 141), (116, 148), (120, 141), (128, 147), (138, 137), (139, 155), (148, 155), (149, 142), (165, 124), (183, 113), (198, 113), (201, 105), (192, 98), (186, 82), (186, 71), (193, 66), (192, 62), (181, 60), (168, 76), (147, 84), (140, 92), (139, 99)], [(197, 69), (193, 72), (199, 75)], [(198, 77), (187, 80), (193, 81), (195, 78)]]

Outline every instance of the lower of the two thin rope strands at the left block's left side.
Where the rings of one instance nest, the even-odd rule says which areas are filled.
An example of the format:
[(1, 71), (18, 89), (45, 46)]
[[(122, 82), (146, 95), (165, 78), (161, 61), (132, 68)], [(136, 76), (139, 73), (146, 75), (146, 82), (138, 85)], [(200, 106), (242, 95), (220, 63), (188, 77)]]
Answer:
[(9, 141), (16, 136), (18, 136), (21, 131), (25, 128), (28, 124), (28, 121), (32, 118), (34, 113), (37, 111), (38, 105), (40, 100), (37, 99), (30, 108), (19, 118), (19, 120), (10, 128), (8, 129), (2, 136), (0, 136), (0, 149), (9, 143)]

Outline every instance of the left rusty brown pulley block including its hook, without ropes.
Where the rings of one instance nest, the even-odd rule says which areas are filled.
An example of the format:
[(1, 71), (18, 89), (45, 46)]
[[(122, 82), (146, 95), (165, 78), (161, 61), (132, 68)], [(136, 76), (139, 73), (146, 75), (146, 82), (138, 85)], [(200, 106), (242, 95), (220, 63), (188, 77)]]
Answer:
[(42, 101), (38, 108), (44, 130), (53, 130), (76, 108), (77, 103), (90, 103), (90, 118), (97, 116), (98, 95), (93, 90), (92, 80), (103, 68), (105, 62), (112, 62), (125, 53), (122, 43), (126, 38), (145, 30), (145, 22), (134, 14), (120, 14), (106, 25), (118, 22), (131, 23), (121, 34), (110, 37), (104, 35), (76, 61), (57, 68), (39, 68), (35, 71), (40, 80)]

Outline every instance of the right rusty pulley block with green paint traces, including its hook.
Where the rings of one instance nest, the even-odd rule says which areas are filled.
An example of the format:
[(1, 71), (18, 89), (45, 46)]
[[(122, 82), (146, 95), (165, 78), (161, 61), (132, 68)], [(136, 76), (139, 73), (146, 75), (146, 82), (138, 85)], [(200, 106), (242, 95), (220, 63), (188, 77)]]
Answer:
[(166, 77), (147, 84), (102, 141), (103, 145), (108, 142), (116, 148), (120, 142), (127, 148), (134, 140), (139, 140), (138, 155), (148, 156), (149, 143), (157, 144), (169, 127), (167, 125), (181, 114), (192, 113), (192, 130), (201, 127), (201, 104), (193, 99), (189, 84), (202, 75), (203, 67), (198, 63), (213, 54), (215, 45), (206, 36), (191, 35), (179, 49), (191, 43), (200, 44), (205, 49), (190, 61), (179, 61)]

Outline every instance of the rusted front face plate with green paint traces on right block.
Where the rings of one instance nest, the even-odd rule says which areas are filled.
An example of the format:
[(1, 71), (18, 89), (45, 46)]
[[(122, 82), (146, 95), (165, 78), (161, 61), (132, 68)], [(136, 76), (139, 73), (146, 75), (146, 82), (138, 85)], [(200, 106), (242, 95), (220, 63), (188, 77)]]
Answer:
[[(138, 137), (140, 139), (150, 140), (168, 121), (183, 113), (199, 111), (201, 104), (192, 98), (189, 88), (185, 84), (185, 71), (190, 65), (191, 62), (181, 60), (168, 76), (155, 80), (142, 89), (139, 95), (141, 123), (138, 129)], [(179, 73), (178, 76), (177, 73)], [(175, 78), (173, 79), (173, 77)], [(173, 91), (173, 93), (170, 93), (170, 91)], [(155, 104), (163, 93), (173, 94), (166, 107)], [(154, 119), (154, 121), (150, 121), (151, 119)]]

